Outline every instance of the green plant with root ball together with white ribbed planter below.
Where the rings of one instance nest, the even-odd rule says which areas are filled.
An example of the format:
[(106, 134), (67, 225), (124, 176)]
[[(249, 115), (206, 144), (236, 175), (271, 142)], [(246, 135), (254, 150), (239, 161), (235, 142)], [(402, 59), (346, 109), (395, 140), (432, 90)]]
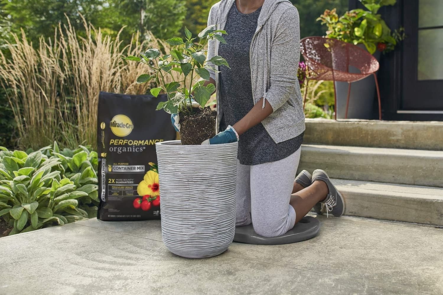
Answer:
[[(201, 145), (216, 130), (217, 111), (206, 107), (215, 90), (214, 84), (205, 85), (205, 80), (210, 80), (209, 70), (215, 71), (210, 63), (228, 66), (221, 56), (206, 61), (205, 46), (214, 38), (225, 42), (222, 34), (226, 32), (210, 26), (193, 37), (185, 28), (185, 40), (165, 41), (175, 48), (165, 55), (150, 48), (141, 57), (125, 57), (154, 70), (154, 74), (140, 75), (137, 83), (155, 79), (160, 86), (152, 88), (151, 94), (167, 93), (167, 101), (159, 102), (157, 110), (180, 118), (181, 141), (159, 142), (156, 151), (163, 241), (172, 253), (183, 257), (223, 253), (235, 233), (238, 143)], [(164, 83), (171, 71), (179, 72), (183, 80)], [(203, 80), (197, 81), (198, 77)], [(199, 107), (193, 107), (196, 104)]]

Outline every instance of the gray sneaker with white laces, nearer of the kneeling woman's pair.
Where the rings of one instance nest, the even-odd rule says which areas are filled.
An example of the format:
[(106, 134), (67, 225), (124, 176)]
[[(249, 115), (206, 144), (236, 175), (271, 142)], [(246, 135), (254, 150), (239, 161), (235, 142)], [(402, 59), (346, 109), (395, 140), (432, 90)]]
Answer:
[[(334, 184), (330, 181), (329, 176), (323, 170), (317, 169), (312, 173), (312, 182), (315, 180), (324, 181), (329, 190), (326, 199), (319, 202), (322, 205), (321, 213), (319, 214), (326, 212), (326, 216), (328, 216), (329, 213), (332, 213), (332, 215), (336, 217), (342, 216), (345, 212), (345, 201), (343, 200), (342, 194), (338, 192), (337, 188), (335, 188)], [(317, 206), (317, 204), (315, 206)]]

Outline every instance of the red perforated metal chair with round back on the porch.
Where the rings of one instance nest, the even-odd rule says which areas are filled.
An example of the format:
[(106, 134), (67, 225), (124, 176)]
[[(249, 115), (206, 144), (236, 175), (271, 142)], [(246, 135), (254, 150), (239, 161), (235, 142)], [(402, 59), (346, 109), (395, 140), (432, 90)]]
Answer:
[[(378, 118), (381, 120), (380, 89), (378, 88), (377, 71), (380, 67), (377, 59), (366, 50), (350, 43), (323, 37), (306, 37), (300, 42), (300, 50), (305, 63), (310, 69), (309, 80), (329, 80), (334, 82), (334, 100), (337, 107), (337, 93), (335, 81), (348, 82), (348, 98), (346, 101), (346, 115), (348, 117), (349, 96), (351, 83), (374, 76), (378, 96)], [(354, 66), (360, 73), (349, 73), (349, 66)], [(303, 108), (306, 102), (306, 94)], [(337, 119), (337, 110), (335, 111)]]

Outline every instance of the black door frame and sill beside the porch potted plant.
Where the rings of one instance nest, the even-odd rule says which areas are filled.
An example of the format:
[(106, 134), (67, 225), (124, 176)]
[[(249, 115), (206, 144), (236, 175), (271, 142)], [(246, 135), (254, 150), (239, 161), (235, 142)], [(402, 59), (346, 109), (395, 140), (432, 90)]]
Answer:
[[(384, 6), (379, 13), (386, 24), (394, 29), (404, 27), (404, 5), (408, 1), (397, 0), (394, 6)], [(349, 9), (364, 8), (358, 0), (349, 0)], [(406, 32), (408, 34), (408, 32)], [(401, 97), (403, 95), (403, 52), (404, 42), (396, 46), (396, 50), (388, 54), (382, 54), (380, 59), (380, 70), (378, 81), (380, 84), (381, 104), (384, 120), (407, 120), (407, 121), (443, 121), (443, 114), (415, 114), (401, 110)], [(374, 94), (374, 101), (376, 97)], [(376, 105), (376, 103), (374, 103)], [(374, 114), (376, 110), (374, 109)]]

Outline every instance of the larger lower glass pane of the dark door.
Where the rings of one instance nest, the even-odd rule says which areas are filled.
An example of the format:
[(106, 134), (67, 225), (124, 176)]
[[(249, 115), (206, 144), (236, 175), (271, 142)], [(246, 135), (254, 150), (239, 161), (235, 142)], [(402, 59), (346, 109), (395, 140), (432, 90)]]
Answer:
[(418, 80), (443, 80), (443, 29), (418, 32)]

